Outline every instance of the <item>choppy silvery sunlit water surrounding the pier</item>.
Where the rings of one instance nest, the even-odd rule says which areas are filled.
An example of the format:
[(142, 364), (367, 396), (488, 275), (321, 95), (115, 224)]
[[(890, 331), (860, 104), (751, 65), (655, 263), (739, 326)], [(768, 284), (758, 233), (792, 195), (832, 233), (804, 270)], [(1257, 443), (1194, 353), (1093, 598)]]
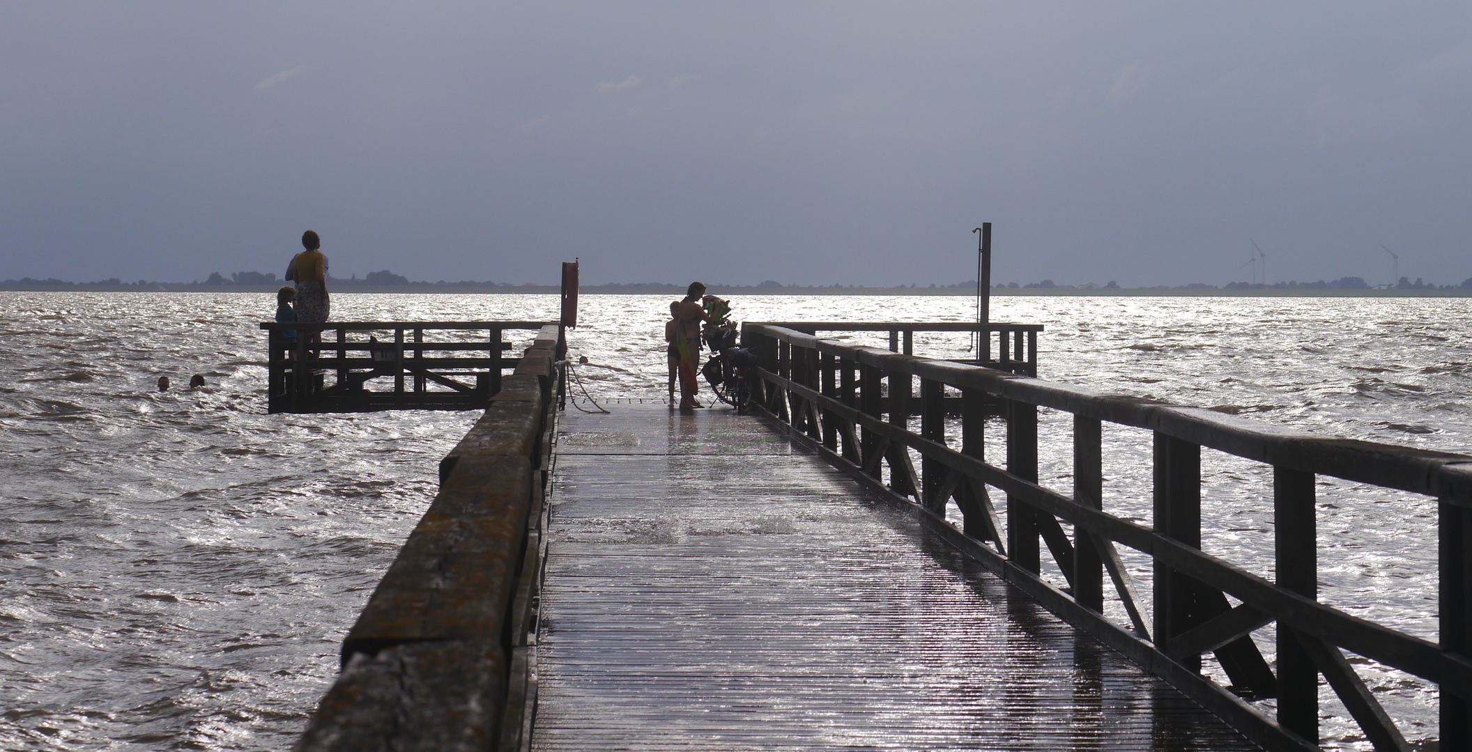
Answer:
[[(333, 306), (344, 321), (540, 319), (556, 300), (340, 294)], [(287, 749), (336, 675), (342, 636), (473, 415), (266, 415), (255, 322), (272, 311), (268, 294), (0, 293), (0, 746)], [(667, 311), (664, 297), (583, 299), (571, 344), (590, 359), (589, 394), (662, 396)], [(1002, 297), (994, 311), (1047, 325), (1044, 378), (1326, 434), (1469, 444), (1465, 299)], [(751, 321), (969, 316), (964, 297), (736, 300)], [(916, 352), (966, 346), (919, 336)], [(196, 372), (209, 387), (181, 389)], [(160, 374), (175, 390), (153, 389)], [(1066, 416), (1042, 421), (1044, 483), (1067, 490)], [(1148, 436), (1105, 431), (1105, 505), (1148, 519)], [(1263, 468), (1210, 452), (1203, 468), (1204, 547), (1269, 574)], [(1434, 524), (1431, 500), (1322, 483), (1323, 600), (1434, 639)], [(1426, 687), (1360, 668), (1409, 734), (1435, 733)], [(1353, 736), (1342, 718), (1326, 733)]]

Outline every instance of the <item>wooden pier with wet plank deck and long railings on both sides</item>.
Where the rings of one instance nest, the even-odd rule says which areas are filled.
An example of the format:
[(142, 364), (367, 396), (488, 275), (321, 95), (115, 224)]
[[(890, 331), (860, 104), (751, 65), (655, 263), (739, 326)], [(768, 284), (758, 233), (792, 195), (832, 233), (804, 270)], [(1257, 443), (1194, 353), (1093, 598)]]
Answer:
[[(1472, 456), (1042, 381), (1036, 330), (983, 368), (901, 352), (957, 330), (789, 324), (743, 330), (748, 415), (559, 412), (542, 330), (297, 749), (1309, 751), (1320, 677), (1410, 749), (1345, 653), (1437, 684), (1440, 749), (1472, 749)], [(1069, 493), (1039, 484), (1039, 409), (1072, 415)], [(1103, 508), (1105, 422), (1153, 446), (1151, 524)], [(1273, 580), (1200, 550), (1203, 449), (1270, 467)], [(1438, 499), (1440, 642), (1317, 600), (1317, 475)]]

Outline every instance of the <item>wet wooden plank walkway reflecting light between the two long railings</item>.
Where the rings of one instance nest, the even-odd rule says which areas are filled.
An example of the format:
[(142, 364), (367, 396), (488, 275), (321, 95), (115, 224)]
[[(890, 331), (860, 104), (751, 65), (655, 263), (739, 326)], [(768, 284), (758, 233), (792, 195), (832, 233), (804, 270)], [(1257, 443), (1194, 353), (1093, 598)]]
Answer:
[(531, 748), (1254, 749), (765, 419), (564, 414)]

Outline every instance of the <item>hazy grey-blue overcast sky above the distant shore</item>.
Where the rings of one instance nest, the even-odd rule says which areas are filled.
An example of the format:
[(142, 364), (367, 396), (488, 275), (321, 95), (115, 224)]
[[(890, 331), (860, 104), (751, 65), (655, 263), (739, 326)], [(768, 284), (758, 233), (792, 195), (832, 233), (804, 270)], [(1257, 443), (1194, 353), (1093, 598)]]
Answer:
[(1472, 3), (0, 4), (0, 278), (1472, 277)]

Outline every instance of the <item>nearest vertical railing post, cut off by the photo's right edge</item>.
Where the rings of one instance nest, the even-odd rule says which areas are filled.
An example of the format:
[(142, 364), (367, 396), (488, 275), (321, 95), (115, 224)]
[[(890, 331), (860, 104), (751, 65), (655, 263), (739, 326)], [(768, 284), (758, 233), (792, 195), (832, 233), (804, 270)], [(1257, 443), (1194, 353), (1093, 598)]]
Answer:
[[(1472, 655), (1472, 509), (1440, 499), (1437, 511), (1441, 650)], [(1441, 749), (1472, 749), (1472, 702), (1441, 687)]]

